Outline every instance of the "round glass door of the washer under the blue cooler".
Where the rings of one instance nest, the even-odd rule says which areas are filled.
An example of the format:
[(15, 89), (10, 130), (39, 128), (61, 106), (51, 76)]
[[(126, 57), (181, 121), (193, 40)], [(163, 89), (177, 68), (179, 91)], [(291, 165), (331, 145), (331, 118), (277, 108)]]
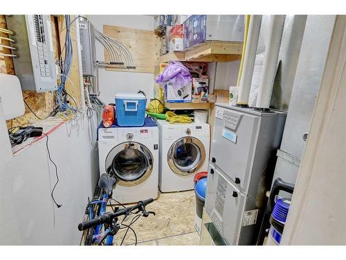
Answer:
[(135, 186), (149, 177), (153, 169), (153, 156), (143, 144), (125, 142), (114, 147), (107, 155), (106, 171), (116, 177), (121, 186)]

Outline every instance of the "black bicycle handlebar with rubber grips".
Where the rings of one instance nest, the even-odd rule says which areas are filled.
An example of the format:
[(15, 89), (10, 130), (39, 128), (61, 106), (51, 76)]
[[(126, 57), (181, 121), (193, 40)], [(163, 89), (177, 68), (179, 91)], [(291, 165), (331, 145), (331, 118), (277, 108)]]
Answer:
[(111, 221), (113, 218), (116, 218), (121, 215), (127, 215), (130, 211), (133, 211), (134, 209), (139, 209), (140, 207), (146, 206), (150, 203), (152, 203), (154, 199), (149, 198), (147, 200), (143, 200), (138, 202), (136, 205), (132, 207), (127, 207), (125, 209), (119, 209), (118, 211), (111, 213), (111, 212), (104, 212), (102, 216), (98, 216), (97, 218), (94, 218), (91, 221), (84, 221), (78, 225), (78, 229), (80, 231), (83, 231), (85, 229), (89, 229), (90, 227), (95, 227), (95, 225), (100, 225), (107, 223)]

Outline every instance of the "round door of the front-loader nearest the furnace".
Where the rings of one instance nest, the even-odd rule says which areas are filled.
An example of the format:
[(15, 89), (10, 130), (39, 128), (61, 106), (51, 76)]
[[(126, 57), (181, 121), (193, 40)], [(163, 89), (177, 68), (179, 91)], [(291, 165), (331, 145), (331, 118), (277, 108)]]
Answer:
[(199, 139), (183, 137), (172, 144), (167, 162), (172, 171), (179, 175), (196, 173), (206, 159), (206, 150)]

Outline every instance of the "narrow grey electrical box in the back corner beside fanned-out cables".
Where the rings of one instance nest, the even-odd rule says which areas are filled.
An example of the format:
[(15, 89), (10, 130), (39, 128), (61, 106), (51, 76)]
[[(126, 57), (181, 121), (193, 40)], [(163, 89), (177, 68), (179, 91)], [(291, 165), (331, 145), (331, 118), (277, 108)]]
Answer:
[(83, 76), (98, 76), (93, 25), (89, 21), (82, 18), (79, 21), (79, 28)]

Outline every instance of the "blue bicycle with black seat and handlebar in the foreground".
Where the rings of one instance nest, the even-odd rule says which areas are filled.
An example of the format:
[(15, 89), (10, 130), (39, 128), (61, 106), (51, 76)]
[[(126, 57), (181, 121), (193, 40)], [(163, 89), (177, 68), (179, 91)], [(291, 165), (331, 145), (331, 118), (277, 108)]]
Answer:
[[(140, 218), (140, 216), (148, 217), (149, 214), (153, 214), (155, 216), (154, 211), (146, 211), (145, 209), (146, 205), (154, 201), (152, 198), (140, 201), (136, 205), (131, 207), (125, 207), (124, 205), (118, 202), (118, 205), (123, 207), (123, 209), (119, 209), (119, 207), (113, 208), (113, 205), (111, 205), (110, 203), (113, 209), (113, 213), (107, 212), (107, 202), (109, 202), (109, 200), (113, 200), (111, 196), (113, 194), (113, 188), (115, 187), (115, 185), (116, 179), (114, 177), (109, 177), (107, 174), (104, 173), (101, 175), (98, 181), (98, 187), (102, 191), (100, 199), (96, 198), (93, 201), (90, 201), (88, 198), (89, 201), (88, 206), (86, 207), (86, 213), (89, 215), (89, 221), (84, 221), (78, 225), (78, 229), (80, 231), (88, 229), (84, 245), (113, 245), (114, 236), (118, 233), (119, 229), (122, 228), (127, 228), (127, 230), (122, 238), (120, 245), (122, 245), (122, 243), (125, 241), (125, 237), (129, 229), (131, 229), (131, 231), (134, 232), (135, 245), (137, 245), (136, 232), (131, 227), (131, 225), (133, 225), (136, 222), (136, 220)], [(135, 210), (137, 211), (133, 212)], [(136, 216), (132, 218), (131, 223), (129, 223), (129, 225), (123, 224), (123, 222), (127, 220), (127, 218), (129, 218), (130, 214), (134, 214)], [(118, 223), (118, 217), (120, 216), (125, 217), (122, 219), (121, 223)], [(102, 229), (104, 229), (103, 232), (101, 232)]]

